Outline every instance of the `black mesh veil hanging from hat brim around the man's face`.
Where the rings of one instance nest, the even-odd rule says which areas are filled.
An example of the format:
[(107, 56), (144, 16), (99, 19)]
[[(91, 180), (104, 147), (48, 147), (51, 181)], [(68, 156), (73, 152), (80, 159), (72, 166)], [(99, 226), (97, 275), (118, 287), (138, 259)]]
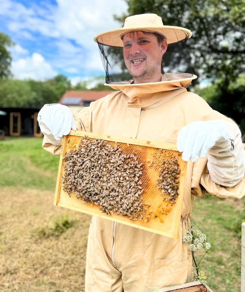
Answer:
[[(168, 30), (166, 33), (169, 35), (134, 30), (122, 36), (111, 34), (109, 39), (99, 35), (96, 41), (105, 69), (105, 82), (107, 84), (124, 83), (126, 80), (130, 80), (128, 83), (133, 83), (140, 74), (145, 75), (142, 80), (148, 79), (148, 82), (153, 82), (156, 72), (164, 74), (164, 62), (160, 52), (161, 48), (159, 48), (162, 42), (166, 42), (168, 45), (176, 44), (185, 42), (189, 38), (186, 31), (182, 31), (180, 34), (177, 30), (179, 35), (174, 30)], [(112, 45), (108, 45), (108, 43)], [(144, 83), (144, 81), (139, 83)]]

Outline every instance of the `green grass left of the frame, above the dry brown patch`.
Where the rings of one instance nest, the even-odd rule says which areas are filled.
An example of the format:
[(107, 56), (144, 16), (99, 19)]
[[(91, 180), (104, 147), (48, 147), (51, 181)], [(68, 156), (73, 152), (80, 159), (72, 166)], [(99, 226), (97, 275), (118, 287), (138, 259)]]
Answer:
[(44, 151), (41, 138), (0, 141), (1, 187), (54, 190), (59, 157)]

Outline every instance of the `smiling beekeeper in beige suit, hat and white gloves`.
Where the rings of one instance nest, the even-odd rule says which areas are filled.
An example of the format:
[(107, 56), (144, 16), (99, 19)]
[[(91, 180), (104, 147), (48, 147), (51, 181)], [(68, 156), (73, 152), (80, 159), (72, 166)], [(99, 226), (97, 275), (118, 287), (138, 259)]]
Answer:
[[(196, 76), (161, 74), (168, 44), (191, 37), (190, 30), (164, 26), (155, 14), (126, 18), (123, 28), (95, 37), (105, 62), (106, 82), (118, 89), (78, 114), (46, 104), (38, 114), (43, 147), (59, 155), (62, 136), (71, 129), (143, 140), (177, 143), (187, 163), (179, 237), (174, 240), (93, 217), (89, 229), (85, 291), (143, 292), (191, 280), (192, 255), (183, 243), (194, 197), (206, 192), (241, 198), (244, 152), (241, 132), (186, 87)], [(133, 79), (112, 82), (108, 46), (121, 47)]]

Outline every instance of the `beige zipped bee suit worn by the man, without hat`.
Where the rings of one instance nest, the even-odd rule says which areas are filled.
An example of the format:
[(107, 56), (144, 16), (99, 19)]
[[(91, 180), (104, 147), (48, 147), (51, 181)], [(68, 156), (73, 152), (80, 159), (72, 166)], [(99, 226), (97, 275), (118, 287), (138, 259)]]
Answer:
[[(120, 91), (91, 103), (74, 116), (77, 130), (176, 143), (183, 126), (193, 121), (223, 119), (233, 127), (234, 146), (239, 148), (241, 134), (234, 122), (212, 110), (201, 97), (187, 92), (190, 76), (176, 75), (176, 79), (179, 78), (183, 79), (112, 86)], [(60, 147), (51, 145), (45, 138), (43, 146), (59, 155)], [(209, 168), (217, 173), (215, 155), (224, 148), (229, 150), (230, 143), (212, 149)], [(227, 153), (222, 159), (222, 163), (225, 161), (222, 171), (230, 173), (226, 187), (211, 179), (207, 158), (188, 162), (177, 240), (93, 217), (88, 237), (85, 291), (143, 292), (189, 282), (192, 257), (182, 238), (190, 226), (194, 196), (208, 192), (219, 197), (240, 198), (245, 194), (243, 160), (236, 160), (232, 151)], [(237, 181), (240, 182), (232, 186)]]

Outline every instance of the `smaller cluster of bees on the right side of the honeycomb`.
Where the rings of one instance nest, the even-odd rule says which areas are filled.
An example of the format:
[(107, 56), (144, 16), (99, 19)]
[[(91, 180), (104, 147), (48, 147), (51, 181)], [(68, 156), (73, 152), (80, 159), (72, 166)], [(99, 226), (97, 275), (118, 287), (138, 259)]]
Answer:
[(161, 189), (164, 201), (175, 204), (179, 195), (179, 163), (177, 157), (172, 160), (165, 159), (161, 166), (156, 187)]

